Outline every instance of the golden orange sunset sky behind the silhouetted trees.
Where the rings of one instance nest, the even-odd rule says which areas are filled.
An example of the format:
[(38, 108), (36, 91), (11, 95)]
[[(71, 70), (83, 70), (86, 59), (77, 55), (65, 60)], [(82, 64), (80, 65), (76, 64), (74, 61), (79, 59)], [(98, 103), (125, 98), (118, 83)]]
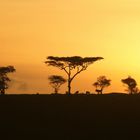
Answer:
[(128, 75), (140, 85), (140, 1), (0, 0), (0, 65), (17, 69), (8, 92), (50, 93), (48, 75), (66, 75), (45, 66), (49, 55), (105, 58), (73, 81), (73, 92), (93, 92), (100, 75), (112, 80), (106, 92), (124, 91)]

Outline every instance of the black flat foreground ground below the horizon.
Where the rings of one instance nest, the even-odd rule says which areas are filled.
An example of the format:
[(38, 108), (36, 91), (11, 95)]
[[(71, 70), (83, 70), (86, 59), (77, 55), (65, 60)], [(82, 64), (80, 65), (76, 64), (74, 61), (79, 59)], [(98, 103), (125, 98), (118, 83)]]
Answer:
[(139, 140), (140, 95), (0, 96), (0, 139)]

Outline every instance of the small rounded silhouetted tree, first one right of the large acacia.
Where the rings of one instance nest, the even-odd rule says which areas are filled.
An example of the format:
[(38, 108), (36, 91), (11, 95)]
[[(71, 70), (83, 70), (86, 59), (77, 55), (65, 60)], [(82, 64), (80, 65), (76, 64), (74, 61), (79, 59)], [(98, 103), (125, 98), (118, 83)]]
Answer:
[(105, 76), (100, 76), (97, 78), (97, 81), (93, 83), (93, 86), (96, 88), (98, 94), (102, 94), (104, 88), (110, 86), (111, 80), (107, 79)]

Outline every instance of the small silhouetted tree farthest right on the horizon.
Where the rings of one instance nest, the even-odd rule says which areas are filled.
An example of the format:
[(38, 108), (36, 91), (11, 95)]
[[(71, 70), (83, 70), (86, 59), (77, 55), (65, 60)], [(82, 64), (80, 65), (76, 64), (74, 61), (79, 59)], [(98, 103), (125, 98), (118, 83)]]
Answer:
[(121, 81), (122, 83), (127, 85), (127, 91), (129, 92), (129, 94), (135, 94), (139, 92), (137, 88), (137, 82), (131, 76), (128, 76), (128, 78), (122, 79)]

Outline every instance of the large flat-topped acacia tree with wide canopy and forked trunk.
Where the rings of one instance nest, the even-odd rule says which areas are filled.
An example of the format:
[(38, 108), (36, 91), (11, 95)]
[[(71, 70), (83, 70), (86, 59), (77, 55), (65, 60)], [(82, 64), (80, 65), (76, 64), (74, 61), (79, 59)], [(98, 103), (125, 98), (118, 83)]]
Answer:
[(54, 66), (60, 70), (64, 70), (68, 76), (68, 94), (71, 94), (71, 83), (73, 79), (95, 61), (103, 59), (102, 57), (54, 57), (48, 56), (45, 63), (48, 66)]

